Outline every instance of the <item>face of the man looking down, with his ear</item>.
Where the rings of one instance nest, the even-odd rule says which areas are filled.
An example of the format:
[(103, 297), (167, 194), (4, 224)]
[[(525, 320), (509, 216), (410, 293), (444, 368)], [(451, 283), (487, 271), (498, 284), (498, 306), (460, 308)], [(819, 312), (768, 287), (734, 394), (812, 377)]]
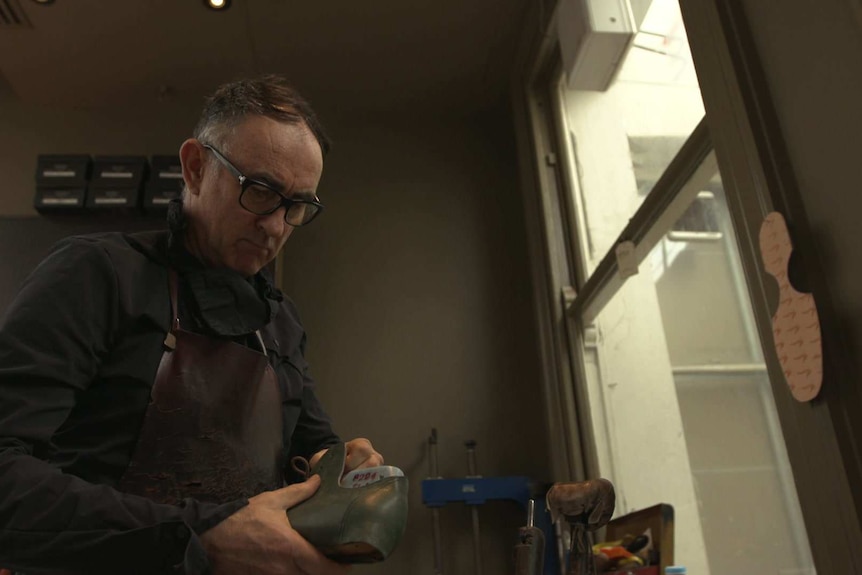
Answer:
[[(250, 116), (224, 141), (221, 151), (244, 176), (266, 182), (288, 198), (316, 194), (323, 156), (305, 124)], [(200, 142), (188, 140), (180, 155), (184, 169), (194, 171), (197, 166), (200, 175), (198, 180), (186, 176), (189, 250), (213, 267), (230, 268), (245, 276), (257, 273), (275, 258), (293, 232), (284, 221), (285, 208), (265, 216), (245, 210), (239, 204), (239, 181)]]

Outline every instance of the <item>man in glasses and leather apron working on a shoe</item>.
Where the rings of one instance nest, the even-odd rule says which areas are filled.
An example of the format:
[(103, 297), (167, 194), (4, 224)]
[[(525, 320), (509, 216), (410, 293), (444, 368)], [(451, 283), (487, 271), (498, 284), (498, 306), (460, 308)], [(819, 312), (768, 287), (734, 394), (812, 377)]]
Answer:
[[(170, 232), (58, 244), (0, 321), (0, 566), (342, 573), (289, 524), (339, 441), (264, 267), (322, 210), (328, 141), (279, 77), (211, 96)], [(345, 470), (381, 465), (347, 443)]]

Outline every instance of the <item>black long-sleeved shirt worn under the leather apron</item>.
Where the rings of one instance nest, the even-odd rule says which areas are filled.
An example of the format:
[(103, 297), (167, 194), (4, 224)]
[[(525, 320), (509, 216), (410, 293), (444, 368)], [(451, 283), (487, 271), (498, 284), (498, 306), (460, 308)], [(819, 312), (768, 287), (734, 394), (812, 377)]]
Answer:
[[(64, 240), (0, 320), (0, 567), (203, 573), (198, 536), (247, 504), (161, 505), (114, 489), (170, 329), (169, 267), (180, 274), (181, 326), (207, 331), (200, 310), (212, 294), (189, 279), (202, 266), (168, 237)], [(287, 298), (272, 305), (260, 331), (278, 376), (289, 461), (338, 437), (315, 397), (296, 309)]]

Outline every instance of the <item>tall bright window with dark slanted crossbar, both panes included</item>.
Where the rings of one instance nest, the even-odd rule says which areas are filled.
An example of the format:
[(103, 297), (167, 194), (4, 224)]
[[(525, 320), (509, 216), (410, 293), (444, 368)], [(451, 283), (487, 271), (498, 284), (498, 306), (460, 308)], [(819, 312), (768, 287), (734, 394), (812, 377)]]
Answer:
[(550, 89), (591, 474), (614, 481), (618, 514), (671, 503), (691, 572), (813, 574), (679, 6), (631, 7), (608, 86), (569, 67)]

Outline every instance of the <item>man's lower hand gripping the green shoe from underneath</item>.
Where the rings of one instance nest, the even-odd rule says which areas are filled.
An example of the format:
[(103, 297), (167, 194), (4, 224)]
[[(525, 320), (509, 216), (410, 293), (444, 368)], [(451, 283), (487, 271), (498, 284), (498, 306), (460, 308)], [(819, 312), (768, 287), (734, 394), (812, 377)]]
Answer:
[(344, 575), (348, 567), (324, 557), (293, 530), (285, 511), (320, 486), (312, 476), (248, 500), (248, 505), (201, 536), (214, 575)]

